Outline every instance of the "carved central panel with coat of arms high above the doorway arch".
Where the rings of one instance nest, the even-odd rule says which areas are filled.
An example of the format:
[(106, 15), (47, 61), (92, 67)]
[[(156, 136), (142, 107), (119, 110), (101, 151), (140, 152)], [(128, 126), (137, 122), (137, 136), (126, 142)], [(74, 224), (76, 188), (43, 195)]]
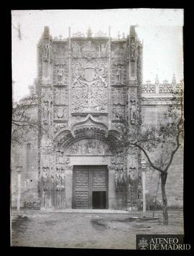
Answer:
[(104, 113), (108, 109), (106, 60), (75, 60), (72, 64), (72, 112)]

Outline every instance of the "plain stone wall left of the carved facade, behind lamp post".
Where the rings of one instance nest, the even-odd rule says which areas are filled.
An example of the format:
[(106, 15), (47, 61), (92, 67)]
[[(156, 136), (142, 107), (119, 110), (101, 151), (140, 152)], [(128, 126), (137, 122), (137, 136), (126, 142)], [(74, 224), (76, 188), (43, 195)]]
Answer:
[[(37, 116), (37, 108), (31, 114)], [(17, 207), (17, 164), (22, 165), (21, 174), (21, 207), (39, 207), (38, 196), (38, 157), (37, 136), (29, 134), (29, 142), (22, 146), (12, 145), (11, 149), (11, 207)]]

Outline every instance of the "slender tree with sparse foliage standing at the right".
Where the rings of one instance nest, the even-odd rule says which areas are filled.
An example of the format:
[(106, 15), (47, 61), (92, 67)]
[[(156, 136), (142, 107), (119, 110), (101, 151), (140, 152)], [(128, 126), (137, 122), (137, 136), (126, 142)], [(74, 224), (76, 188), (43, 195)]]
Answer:
[[(119, 135), (112, 140), (114, 148), (120, 151), (137, 147), (144, 153), (151, 168), (160, 172), (163, 203), (163, 223), (168, 224), (167, 196), (165, 185), (167, 174), (183, 137), (183, 89), (172, 93), (170, 105), (165, 111), (165, 124), (159, 127), (142, 123), (135, 124), (121, 119)], [(157, 153), (156, 153), (157, 152)]]

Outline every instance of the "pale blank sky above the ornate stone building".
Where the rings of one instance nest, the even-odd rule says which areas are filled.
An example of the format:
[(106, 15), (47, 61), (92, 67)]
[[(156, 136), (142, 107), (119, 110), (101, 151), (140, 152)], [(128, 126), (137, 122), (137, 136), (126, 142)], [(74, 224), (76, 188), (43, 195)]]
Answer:
[[(37, 42), (45, 26), (52, 37), (68, 37), (77, 31), (93, 34), (101, 30), (111, 37), (129, 34), (137, 25), (142, 40), (143, 76), (154, 82), (183, 79), (183, 9), (104, 9), (104, 10), (14, 10), (11, 11), (12, 81), (15, 101), (29, 93), (29, 85), (37, 78)], [(18, 29), (18, 26), (20, 29)], [(19, 30), (21, 37), (19, 37)]]

